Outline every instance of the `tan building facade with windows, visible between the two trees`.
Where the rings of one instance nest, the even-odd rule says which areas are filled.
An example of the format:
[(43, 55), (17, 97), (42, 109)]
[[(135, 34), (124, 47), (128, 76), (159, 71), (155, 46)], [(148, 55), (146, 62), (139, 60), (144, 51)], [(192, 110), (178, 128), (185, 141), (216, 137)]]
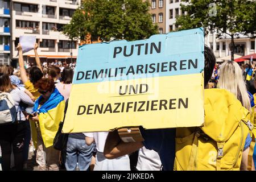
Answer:
[[(145, 0), (143, 0), (144, 2)], [(159, 34), (165, 34), (166, 32), (166, 0), (152, 0), (150, 1), (150, 13), (152, 16), (152, 22), (158, 25)]]

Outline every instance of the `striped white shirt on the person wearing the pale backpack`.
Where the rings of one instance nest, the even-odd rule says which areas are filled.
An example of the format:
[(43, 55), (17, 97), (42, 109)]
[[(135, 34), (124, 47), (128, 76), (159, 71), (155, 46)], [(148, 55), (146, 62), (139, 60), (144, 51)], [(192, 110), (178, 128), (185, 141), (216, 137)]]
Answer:
[(14, 100), (14, 104), (16, 107), (16, 112), (17, 112), (17, 120), (18, 121), (25, 121), (26, 118), (22, 111), (20, 110), (19, 103), (24, 102), (24, 104), (27, 104), (29, 106), (34, 106), (34, 102), (31, 100), (31, 98), (24, 93), (22, 90), (19, 90), (18, 88), (11, 90), (10, 92), (11, 97)]

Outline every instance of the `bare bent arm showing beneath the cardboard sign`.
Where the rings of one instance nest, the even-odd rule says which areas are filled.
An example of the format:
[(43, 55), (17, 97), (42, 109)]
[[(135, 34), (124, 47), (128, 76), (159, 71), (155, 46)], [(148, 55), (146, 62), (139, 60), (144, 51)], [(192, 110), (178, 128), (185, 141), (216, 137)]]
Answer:
[(119, 156), (131, 154), (141, 147), (143, 147), (142, 142), (123, 142), (118, 135), (118, 131), (114, 130), (109, 132), (108, 138), (106, 139), (104, 155), (107, 159), (115, 159)]

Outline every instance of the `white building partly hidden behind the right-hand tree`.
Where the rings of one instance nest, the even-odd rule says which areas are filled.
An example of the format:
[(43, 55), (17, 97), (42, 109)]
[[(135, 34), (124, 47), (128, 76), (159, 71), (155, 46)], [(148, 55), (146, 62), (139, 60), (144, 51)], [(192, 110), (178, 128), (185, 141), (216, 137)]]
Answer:
[[(185, 3), (182, 2), (184, 5)], [(184, 15), (185, 12), (181, 11), (181, 0), (166, 0), (166, 33), (176, 31), (175, 26), (177, 16)], [(231, 55), (230, 44), (231, 38), (229, 35), (223, 35), (217, 38), (218, 30), (210, 32), (205, 36), (205, 44), (213, 49), (216, 57), (225, 57)], [(234, 53), (237, 55), (249, 55), (256, 53), (256, 38), (255, 36), (238, 35), (234, 39), (235, 49)]]

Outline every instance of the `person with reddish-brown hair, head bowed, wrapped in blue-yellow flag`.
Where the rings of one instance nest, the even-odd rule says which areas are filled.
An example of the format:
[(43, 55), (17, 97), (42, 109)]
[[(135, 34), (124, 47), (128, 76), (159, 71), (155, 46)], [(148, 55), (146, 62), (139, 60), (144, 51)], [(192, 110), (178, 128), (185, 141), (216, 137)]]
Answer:
[(51, 78), (41, 78), (36, 82), (35, 88), (42, 95), (35, 102), (35, 114), (31, 115), (31, 118), (39, 122), (42, 139), (38, 140), (38, 145), (43, 146), (43, 152), (46, 154), (46, 166), (40, 170), (59, 171), (60, 151), (53, 148), (53, 139), (60, 121), (63, 121), (64, 97), (55, 88), (55, 83)]

